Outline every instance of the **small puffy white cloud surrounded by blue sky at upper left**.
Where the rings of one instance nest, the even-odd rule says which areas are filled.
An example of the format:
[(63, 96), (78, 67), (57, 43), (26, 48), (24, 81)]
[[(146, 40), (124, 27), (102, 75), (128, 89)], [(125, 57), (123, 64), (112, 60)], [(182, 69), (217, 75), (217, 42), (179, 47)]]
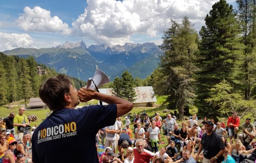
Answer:
[(33, 9), (25, 7), (23, 11), (16, 24), (25, 31), (63, 33), (68, 31), (68, 24), (63, 23), (58, 16), (51, 17), (51, 12), (46, 9), (36, 6)]

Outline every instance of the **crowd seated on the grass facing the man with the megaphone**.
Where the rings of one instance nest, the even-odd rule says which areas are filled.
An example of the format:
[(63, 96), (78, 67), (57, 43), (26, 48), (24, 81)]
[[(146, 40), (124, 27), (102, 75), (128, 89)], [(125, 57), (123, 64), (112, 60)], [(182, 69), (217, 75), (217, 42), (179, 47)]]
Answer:
[[(9, 117), (14, 117), (13, 113)], [(99, 154), (100, 163), (207, 162), (204, 160), (204, 151), (198, 153), (198, 148), (202, 144), (202, 136), (206, 134), (204, 123), (207, 122), (212, 123), (213, 131), (221, 138), (225, 146), (221, 154), (223, 159), (216, 159), (215, 162), (252, 163), (256, 161), (256, 151), (254, 151), (256, 143), (253, 141), (255, 126), (250, 118), (240, 125), (237, 112), (233, 112), (227, 122), (217, 121), (217, 123), (205, 117), (199, 124), (196, 114), (181, 124), (178, 124), (171, 114), (167, 114), (166, 119), (162, 119), (160, 114), (156, 114), (152, 119), (145, 115), (141, 119), (137, 114), (133, 121), (127, 117), (123, 121), (125, 125), (120, 117), (114, 125), (106, 126), (97, 133), (96, 145), (101, 144), (104, 148), (104, 151)], [(130, 128), (131, 125), (134, 126), (133, 130)], [(242, 130), (239, 131), (239, 127)], [(12, 131), (11, 129), (8, 131)], [(32, 131), (34, 129), (35, 127)], [(165, 139), (161, 137), (161, 132), (166, 136), (167, 142), (164, 147), (159, 148), (160, 144), (164, 144), (162, 140)], [(12, 133), (7, 132), (5, 128), (0, 128), (0, 163), (32, 162), (31, 131), (22, 132), (22, 138), (19, 135), (16, 139)]]

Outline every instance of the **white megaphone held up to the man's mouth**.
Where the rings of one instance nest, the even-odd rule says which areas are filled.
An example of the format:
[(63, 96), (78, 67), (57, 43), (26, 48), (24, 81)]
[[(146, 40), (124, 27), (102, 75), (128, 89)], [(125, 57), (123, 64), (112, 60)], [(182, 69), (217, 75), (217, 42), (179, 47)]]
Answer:
[[(93, 78), (89, 78), (86, 84), (86, 87), (92, 90), (98, 89), (99, 86), (105, 83), (109, 83), (110, 79), (104, 72), (99, 69), (96, 69)], [(98, 91), (98, 90), (97, 90)]]

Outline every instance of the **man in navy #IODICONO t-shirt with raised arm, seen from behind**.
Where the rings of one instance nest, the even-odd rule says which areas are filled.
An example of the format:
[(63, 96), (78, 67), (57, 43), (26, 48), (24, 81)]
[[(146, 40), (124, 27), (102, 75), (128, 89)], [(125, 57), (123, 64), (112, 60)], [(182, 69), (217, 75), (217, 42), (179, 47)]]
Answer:
[[(133, 108), (133, 103), (100, 92), (73, 87), (65, 75), (48, 78), (39, 88), (39, 96), (53, 113), (34, 131), (32, 161), (98, 162), (95, 135), (100, 128), (111, 126), (116, 118)], [(91, 105), (74, 109), (79, 101), (96, 99), (109, 105)]]

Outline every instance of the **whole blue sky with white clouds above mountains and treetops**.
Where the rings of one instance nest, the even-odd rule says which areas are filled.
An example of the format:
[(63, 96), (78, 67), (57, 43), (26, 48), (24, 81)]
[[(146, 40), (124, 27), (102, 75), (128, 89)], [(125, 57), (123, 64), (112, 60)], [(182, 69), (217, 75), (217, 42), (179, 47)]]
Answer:
[[(51, 48), (66, 41), (161, 44), (170, 18), (199, 31), (217, 0), (2, 0), (0, 51)], [(227, 3), (234, 5), (235, 0)]]

